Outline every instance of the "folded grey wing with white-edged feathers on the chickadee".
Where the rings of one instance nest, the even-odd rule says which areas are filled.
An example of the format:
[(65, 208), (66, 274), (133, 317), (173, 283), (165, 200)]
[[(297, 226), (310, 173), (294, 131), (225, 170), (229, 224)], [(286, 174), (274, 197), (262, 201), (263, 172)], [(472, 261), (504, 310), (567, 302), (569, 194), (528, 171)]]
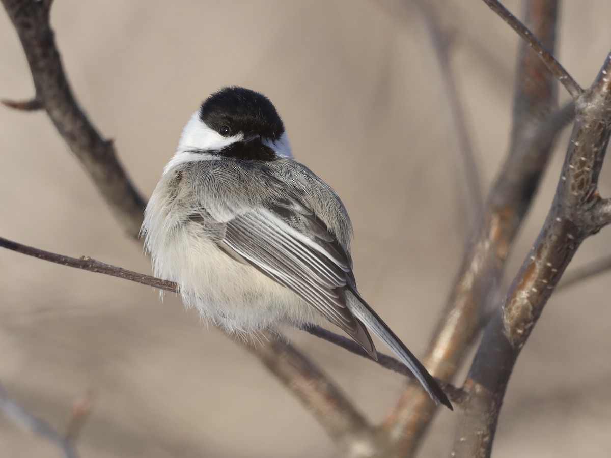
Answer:
[(299, 200), (276, 199), (236, 214), (227, 221), (219, 246), (298, 294), (377, 359), (367, 330), (346, 306), (342, 291), (353, 282), (352, 260)]

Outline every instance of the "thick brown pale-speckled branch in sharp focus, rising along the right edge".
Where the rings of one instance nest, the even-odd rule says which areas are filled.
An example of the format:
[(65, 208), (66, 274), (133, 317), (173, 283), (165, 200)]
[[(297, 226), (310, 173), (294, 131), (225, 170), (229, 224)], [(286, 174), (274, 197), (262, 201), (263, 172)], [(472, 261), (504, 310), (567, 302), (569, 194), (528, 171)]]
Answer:
[(609, 224), (598, 176), (611, 136), (611, 54), (594, 84), (576, 100), (554, 202), (543, 228), (478, 347), (453, 456), (489, 457), (500, 407), (516, 360), (563, 272), (588, 236)]

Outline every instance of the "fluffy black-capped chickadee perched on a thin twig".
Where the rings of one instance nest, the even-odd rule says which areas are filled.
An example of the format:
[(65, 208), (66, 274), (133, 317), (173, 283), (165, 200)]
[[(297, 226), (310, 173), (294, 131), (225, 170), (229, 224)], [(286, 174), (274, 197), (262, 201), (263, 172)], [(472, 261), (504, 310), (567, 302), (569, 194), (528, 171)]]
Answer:
[(185, 126), (144, 213), (157, 277), (183, 302), (232, 333), (326, 318), (374, 359), (367, 326), (435, 402), (444, 392), (360, 297), (352, 225), (340, 198), (291, 155), (266, 96), (225, 87)]

